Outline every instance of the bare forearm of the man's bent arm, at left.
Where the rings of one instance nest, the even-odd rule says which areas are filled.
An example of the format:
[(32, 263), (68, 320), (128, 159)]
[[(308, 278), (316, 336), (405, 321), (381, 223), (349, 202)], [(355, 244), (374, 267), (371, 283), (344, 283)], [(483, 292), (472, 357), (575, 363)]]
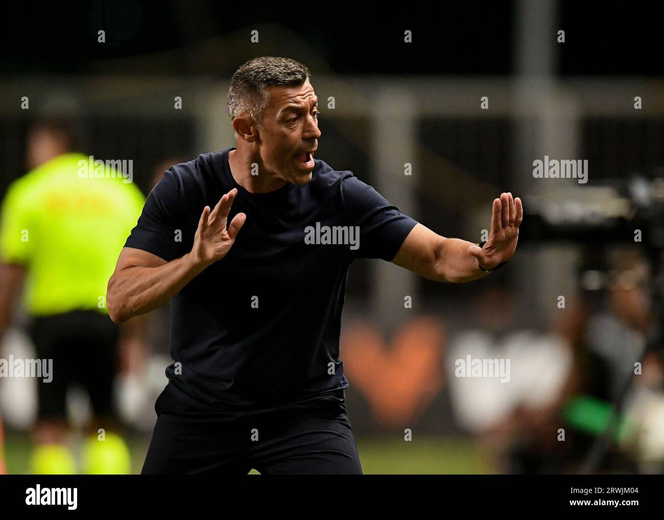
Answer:
[(153, 311), (169, 302), (207, 264), (191, 253), (159, 267), (128, 267), (116, 272), (108, 281), (108, 313), (116, 323)]

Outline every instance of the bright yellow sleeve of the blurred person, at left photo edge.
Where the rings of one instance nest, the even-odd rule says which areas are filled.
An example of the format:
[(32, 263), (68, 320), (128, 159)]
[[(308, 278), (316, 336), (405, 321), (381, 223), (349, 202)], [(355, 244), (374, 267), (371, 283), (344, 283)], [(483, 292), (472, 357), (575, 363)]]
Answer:
[(33, 254), (29, 234), (34, 229), (32, 209), (23, 178), (14, 181), (0, 209), (0, 262), (29, 264)]

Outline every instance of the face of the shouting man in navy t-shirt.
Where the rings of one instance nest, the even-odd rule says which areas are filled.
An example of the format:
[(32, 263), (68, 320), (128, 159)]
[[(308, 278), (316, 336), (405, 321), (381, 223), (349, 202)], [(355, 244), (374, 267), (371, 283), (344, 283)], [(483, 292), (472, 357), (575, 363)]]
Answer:
[(297, 185), (311, 181), (318, 147), (318, 98), (307, 80), (301, 86), (268, 87), (260, 135), (264, 167)]

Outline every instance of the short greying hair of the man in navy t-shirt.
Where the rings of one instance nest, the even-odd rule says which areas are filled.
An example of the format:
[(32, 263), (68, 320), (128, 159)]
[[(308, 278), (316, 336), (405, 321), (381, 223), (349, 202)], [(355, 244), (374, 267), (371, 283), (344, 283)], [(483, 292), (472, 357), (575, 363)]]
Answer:
[(299, 86), (311, 80), (309, 69), (290, 58), (261, 56), (253, 58), (235, 71), (230, 80), (226, 104), (233, 120), (249, 112), (259, 124), (268, 104), (267, 86)]

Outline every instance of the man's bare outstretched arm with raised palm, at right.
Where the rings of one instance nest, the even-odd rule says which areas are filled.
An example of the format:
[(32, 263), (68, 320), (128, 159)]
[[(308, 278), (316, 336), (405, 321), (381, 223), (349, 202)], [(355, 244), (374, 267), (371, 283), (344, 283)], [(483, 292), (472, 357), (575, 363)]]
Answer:
[(523, 220), (521, 199), (501, 193), (493, 200), (491, 230), (482, 248), (460, 238), (446, 238), (417, 224), (404, 240), (392, 263), (436, 282), (471, 282), (486, 270), (514, 256)]

